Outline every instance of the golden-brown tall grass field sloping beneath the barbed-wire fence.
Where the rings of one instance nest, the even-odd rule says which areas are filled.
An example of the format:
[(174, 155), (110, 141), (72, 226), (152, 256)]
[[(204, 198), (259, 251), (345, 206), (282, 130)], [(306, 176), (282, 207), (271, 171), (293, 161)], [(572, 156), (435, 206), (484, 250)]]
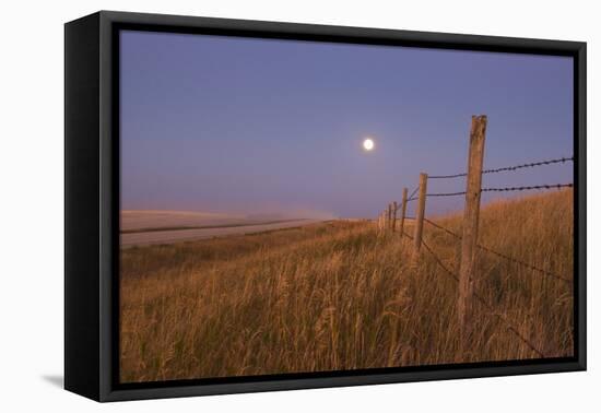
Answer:
[[(573, 192), (485, 206), (480, 243), (573, 276)], [(431, 217), (460, 233), (460, 216)], [(411, 233), (411, 224), (409, 224)], [(459, 244), (425, 226), (424, 239), (457, 271)], [(123, 382), (414, 366), (573, 354), (573, 286), (479, 255), (475, 333), (459, 354), (457, 283), (429, 253), (373, 222), (121, 251)]]

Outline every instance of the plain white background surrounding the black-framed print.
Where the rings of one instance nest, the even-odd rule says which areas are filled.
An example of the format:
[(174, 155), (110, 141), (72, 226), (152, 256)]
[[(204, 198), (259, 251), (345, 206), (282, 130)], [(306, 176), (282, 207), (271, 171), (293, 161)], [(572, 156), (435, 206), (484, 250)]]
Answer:
[[(600, 411), (596, 1), (5, 1), (0, 5), (0, 410)], [(588, 42), (589, 371), (98, 404), (62, 390), (63, 27), (97, 10)], [(601, 215), (600, 215), (601, 216)], [(594, 235), (593, 235), (594, 234)]]

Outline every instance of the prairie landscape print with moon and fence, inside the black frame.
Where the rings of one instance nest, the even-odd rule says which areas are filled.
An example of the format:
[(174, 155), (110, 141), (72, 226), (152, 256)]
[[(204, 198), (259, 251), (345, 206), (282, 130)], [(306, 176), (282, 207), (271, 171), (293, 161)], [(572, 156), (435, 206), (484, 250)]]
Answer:
[(119, 36), (120, 382), (574, 355), (571, 58)]

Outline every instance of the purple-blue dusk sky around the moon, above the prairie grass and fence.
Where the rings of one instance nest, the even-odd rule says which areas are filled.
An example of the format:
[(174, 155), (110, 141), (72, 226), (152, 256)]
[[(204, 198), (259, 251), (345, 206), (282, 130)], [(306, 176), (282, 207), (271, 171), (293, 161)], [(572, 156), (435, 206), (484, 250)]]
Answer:
[[(463, 172), (479, 114), (485, 168), (573, 155), (567, 57), (122, 32), (120, 71), (122, 209), (372, 217), (420, 172)], [(571, 180), (559, 164), (484, 186)]]

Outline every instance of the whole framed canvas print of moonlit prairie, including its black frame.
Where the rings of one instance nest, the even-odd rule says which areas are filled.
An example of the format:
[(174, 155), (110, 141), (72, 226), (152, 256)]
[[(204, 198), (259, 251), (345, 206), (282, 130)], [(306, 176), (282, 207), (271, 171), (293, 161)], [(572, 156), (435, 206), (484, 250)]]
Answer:
[(68, 390), (586, 368), (586, 44), (66, 24)]

